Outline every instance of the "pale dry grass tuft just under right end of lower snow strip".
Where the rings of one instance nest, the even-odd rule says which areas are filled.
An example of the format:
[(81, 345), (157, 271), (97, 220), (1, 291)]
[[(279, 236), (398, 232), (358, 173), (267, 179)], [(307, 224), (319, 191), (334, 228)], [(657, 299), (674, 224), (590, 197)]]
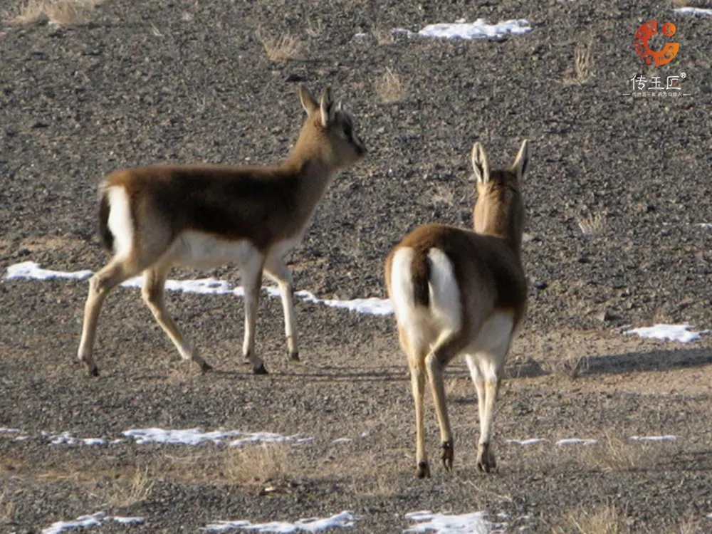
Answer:
[(236, 483), (261, 483), (286, 476), (290, 466), (284, 444), (234, 447), (225, 455), (225, 474)]

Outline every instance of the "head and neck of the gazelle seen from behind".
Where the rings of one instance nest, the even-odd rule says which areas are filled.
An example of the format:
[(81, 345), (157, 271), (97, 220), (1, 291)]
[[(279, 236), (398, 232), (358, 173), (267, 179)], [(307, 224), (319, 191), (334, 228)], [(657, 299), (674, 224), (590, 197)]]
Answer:
[(519, 251), (524, 231), (524, 202), (520, 183), (529, 167), (529, 145), (524, 140), (508, 169), (490, 169), (484, 148), (472, 147), (472, 168), (477, 182), (474, 227), (478, 234), (506, 239)]

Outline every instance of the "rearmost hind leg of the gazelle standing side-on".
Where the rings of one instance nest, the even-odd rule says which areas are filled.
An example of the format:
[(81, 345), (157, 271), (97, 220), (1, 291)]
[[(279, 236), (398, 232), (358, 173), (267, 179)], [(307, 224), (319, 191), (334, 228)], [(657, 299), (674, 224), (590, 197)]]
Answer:
[(127, 280), (127, 278), (134, 276), (137, 272), (137, 270), (130, 268), (127, 262), (114, 258), (90, 278), (89, 292), (84, 305), (82, 337), (79, 342), (77, 356), (81, 362), (85, 363), (89, 375), (93, 377), (99, 375), (99, 370), (93, 357), (93, 348), (101, 306), (113, 288)]

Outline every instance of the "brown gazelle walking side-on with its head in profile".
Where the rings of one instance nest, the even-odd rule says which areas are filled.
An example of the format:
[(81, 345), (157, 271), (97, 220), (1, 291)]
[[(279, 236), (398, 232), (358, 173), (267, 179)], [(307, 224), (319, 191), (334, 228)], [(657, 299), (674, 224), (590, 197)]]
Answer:
[(98, 375), (92, 355), (99, 312), (117, 284), (143, 273), (143, 299), (185, 360), (211, 369), (168, 315), (164, 283), (173, 266), (235, 263), (245, 293), (242, 352), (266, 373), (254, 348), (263, 271), (278, 283), (291, 360), (299, 360), (292, 281), (284, 256), (299, 243), (331, 178), (366, 149), (350, 114), (329, 88), (319, 102), (300, 86), (308, 116), (285, 162), (274, 167), (140, 167), (110, 174), (100, 190), (100, 234), (113, 252), (90, 280), (78, 357)]

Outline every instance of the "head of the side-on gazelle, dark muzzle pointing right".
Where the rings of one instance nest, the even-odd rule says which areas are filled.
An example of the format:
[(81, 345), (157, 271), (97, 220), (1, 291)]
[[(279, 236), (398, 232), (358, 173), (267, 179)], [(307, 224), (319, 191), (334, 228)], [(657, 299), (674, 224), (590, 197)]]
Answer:
[(299, 98), (308, 117), (299, 133), (295, 152), (318, 157), (333, 170), (355, 164), (366, 153), (366, 147), (354, 130), (353, 117), (334, 102), (330, 88), (325, 88), (317, 101), (304, 85)]

